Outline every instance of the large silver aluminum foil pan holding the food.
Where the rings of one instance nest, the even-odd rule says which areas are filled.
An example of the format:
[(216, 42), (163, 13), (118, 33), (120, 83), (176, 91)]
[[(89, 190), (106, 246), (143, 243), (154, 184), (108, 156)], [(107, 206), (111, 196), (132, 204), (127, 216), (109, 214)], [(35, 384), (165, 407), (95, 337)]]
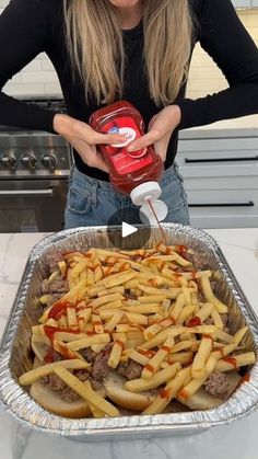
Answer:
[[(230, 326), (234, 332), (248, 325), (245, 345), (258, 353), (258, 320), (238, 286), (216, 242), (204, 231), (180, 225), (163, 225), (167, 242), (185, 244), (203, 254), (210, 268), (216, 272), (216, 296), (230, 305)], [(120, 229), (114, 228), (120, 239)], [(138, 231), (138, 246), (144, 245), (144, 230)], [(134, 234), (136, 237), (136, 234)], [(113, 238), (114, 240), (114, 238)], [(134, 239), (133, 239), (134, 240)], [(126, 241), (126, 240), (125, 240)], [(153, 228), (149, 244), (160, 241), (160, 231)], [(32, 368), (33, 355), (30, 346), (31, 329), (42, 313), (37, 306), (40, 282), (45, 273), (45, 257), (54, 245), (63, 251), (83, 250), (91, 246), (110, 248), (106, 227), (90, 227), (67, 230), (47, 237), (32, 250), (0, 347), (0, 399), (5, 411), (23, 425), (45, 433), (82, 440), (108, 439), (114, 437), (143, 438), (153, 436), (189, 435), (204, 428), (227, 424), (239, 418), (258, 403), (258, 364), (250, 369), (250, 380), (241, 385), (222, 405), (209, 411), (165, 413), (159, 415), (122, 415), (117, 418), (69, 420), (50, 414), (34, 402), (19, 377)], [(129, 246), (127, 245), (129, 249)]]

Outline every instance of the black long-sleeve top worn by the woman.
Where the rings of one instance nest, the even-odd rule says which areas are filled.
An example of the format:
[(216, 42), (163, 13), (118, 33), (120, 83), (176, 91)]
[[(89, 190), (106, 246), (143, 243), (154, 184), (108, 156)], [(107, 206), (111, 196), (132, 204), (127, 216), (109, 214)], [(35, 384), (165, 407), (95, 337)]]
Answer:
[[(212, 95), (190, 100), (185, 99), (184, 84), (175, 101), (181, 110), (178, 129), (258, 113), (258, 49), (242, 25), (231, 1), (189, 0), (189, 4), (195, 16), (192, 49), (200, 42), (224, 73), (228, 88)], [(124, 31), (124, 41), (127, 68), (122, 99), (138, 107), (148, 126), (162, 106), (156, 106), (151, 100), (142, 68), (141, 23), (131, 31)], [(46, 51), (55, 66), (68, 114), (87, 123), (97, 105), (94, 102), (86, 104), (82, 82), (74, 82), (72, 78), (63, 33), (62, 0), (12, 0), (0, 16), (0, 89), (42, 51)], [(2, 125), (55, 133), (54, 116), (55, 112), (26, 104), (0, 92)], [(178, 129), (172, 136), (165, 168), (173, 163), (176, 156)], [(74, 158), (81, 172), (99, 180), (108, 180), (106, 173), (85, 165), (75, 151)]]

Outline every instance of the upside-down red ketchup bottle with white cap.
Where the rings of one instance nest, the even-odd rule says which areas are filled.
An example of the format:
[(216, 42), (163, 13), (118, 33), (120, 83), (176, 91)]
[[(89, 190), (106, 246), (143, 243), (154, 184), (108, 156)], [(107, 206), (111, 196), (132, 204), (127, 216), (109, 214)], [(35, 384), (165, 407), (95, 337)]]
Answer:
[[(94, 112), (90, 125), (101, 134), (121, 134), (127, 137), (124, 144), (99, 145), (104, 161), (108, 165), (109, 179), (115, 190), (130, 195), (134, 205), (148, 219), (155, 222), (165, 219), (167, 207), (159, 199), (162, 190), (159, 181), (164, 165), (153, 146), (138, 151), (128, 152), (127, 146), (144, 135), (144, 122), (138, 110), (127, 101), (115, 102)], [(151, 206), (149, 206), (151, 202)], [(153, 218), (152, 209), (156, 216)]]

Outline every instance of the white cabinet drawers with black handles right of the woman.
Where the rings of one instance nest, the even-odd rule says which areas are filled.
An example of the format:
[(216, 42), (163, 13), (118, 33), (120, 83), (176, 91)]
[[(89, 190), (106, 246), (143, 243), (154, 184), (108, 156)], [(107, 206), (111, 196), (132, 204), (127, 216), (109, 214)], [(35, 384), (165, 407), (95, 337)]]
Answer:
[(258, 130), (181, 131), (176, 162), (194, 227), (258, 227)]

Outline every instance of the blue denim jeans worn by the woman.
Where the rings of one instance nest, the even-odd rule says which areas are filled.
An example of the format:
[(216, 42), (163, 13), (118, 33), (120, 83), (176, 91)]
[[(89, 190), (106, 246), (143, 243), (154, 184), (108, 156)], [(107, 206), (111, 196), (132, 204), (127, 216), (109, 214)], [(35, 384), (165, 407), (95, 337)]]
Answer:
[[(161, 199), (168, 208), (164, 221), (189, 225), (187, 196), (176, 165), (165, 171), (160, 185)], [(91, 179), (72, 168), (66, 207), (66, 229), (107, 225), (115, 213), (128, 208), (137, 207), (130, 197), (117, 193), (109, 182)]]

